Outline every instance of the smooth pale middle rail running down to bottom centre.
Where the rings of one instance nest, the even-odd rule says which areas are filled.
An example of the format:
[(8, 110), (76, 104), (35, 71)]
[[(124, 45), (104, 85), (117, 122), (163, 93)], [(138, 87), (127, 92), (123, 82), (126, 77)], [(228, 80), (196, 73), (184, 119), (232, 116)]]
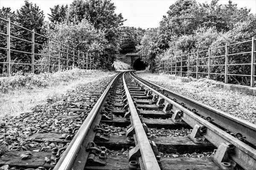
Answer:
[(157, 159), (154, 155), (154, 152), (151, 148), (151, 145), (148, 141), (148, 137), (145, 133), (145, 130), (140, 122), (140, 117), (137, 113), (137, 110), (134, 106), (134, 102), (131, 98), (131, 94), (128, 90), (128, 87), (125, 82), (125, 74), (123, 74), (123, 84), (125, 89), (125, 94), (127, 97), (127, 102), (129, 105), (130, 113), (131, 113), (131, 122), (133, 124), (135, 135), (137, 137), (137, 144), (139, 144), (141, 157), (143, 159), (143, 165), (145, 170), (160, 170), (160, 167), (157, 163)]

